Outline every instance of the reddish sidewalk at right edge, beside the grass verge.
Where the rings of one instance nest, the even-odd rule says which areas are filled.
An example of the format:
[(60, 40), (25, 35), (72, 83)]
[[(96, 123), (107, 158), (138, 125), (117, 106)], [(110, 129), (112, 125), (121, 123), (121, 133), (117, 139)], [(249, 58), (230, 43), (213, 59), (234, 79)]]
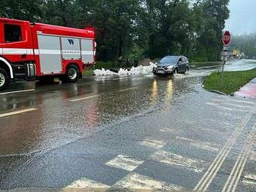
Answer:
[(256, 98), (256, 78), (241, 87), (240, 91), (235, 92), (235, 95), (244, 98)]

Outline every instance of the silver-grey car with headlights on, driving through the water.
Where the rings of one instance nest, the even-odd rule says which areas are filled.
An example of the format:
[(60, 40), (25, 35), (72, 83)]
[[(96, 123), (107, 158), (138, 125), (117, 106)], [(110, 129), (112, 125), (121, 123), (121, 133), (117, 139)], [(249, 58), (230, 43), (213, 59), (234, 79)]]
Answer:
[(153, 73), (158, 75), (185, 74), (189, 71), (189, 60), (183, 56), (167, 56), (156, 63)]

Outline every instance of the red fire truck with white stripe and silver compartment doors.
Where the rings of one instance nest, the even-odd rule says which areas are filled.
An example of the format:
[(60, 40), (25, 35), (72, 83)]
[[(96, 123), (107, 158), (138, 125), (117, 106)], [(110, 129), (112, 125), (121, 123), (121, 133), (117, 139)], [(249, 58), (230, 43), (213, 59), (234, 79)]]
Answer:
[(9, 81), (75, 82), (95, 64), (95, 31), (0, 18), (0, 91)]

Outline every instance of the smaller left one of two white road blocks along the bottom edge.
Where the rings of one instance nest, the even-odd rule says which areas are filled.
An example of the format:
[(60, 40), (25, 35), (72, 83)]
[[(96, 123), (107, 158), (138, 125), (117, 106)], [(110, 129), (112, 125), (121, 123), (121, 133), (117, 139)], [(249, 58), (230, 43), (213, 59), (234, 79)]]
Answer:
[(88, 190), (100, 190), (105, 191), (109, 189), (109, 186), (103, 183), (97, 183), (94, 180), (88, 180), (86, 178), (81, 178), (80, 180), (76, 180), (67, 187), (64, 188), (64, 190), (69, 189), (88, 189)]

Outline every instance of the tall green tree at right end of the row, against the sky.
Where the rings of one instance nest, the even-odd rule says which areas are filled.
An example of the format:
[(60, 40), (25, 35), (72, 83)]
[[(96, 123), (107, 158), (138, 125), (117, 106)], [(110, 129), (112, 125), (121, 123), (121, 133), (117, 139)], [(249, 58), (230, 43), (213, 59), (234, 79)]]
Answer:
[(225, 21), (229, 18), (229, 0), (206, 0), (195, 4), (197, 45), (196, 57), (220, 60)]

